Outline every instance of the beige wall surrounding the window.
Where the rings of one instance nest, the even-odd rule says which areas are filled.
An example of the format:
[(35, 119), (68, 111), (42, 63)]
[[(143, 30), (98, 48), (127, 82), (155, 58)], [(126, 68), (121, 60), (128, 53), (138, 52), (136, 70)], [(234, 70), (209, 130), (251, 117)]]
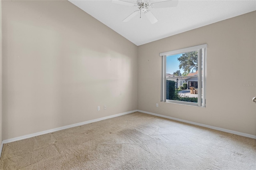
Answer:
[[(138, 47), (138, 109), (256, 135), (256, 12)], [(160, 102), (159, 53), (208, 44), (206, 108)], [(159, 103), (159, 107), (156, 107)]]

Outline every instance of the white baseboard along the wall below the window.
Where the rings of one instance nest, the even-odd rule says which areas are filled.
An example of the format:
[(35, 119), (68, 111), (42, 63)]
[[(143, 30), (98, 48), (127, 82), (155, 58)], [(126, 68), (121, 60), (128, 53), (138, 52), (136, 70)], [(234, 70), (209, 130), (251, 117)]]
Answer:
[(213, 127), (213, 126), (210, 126), (210, 125), (204, 125), (204, 124), (201, 124), (201, 123), (195, 123), (195, 122), (186, 121), (186, 120), (183, 120), (183, 119), (177, 119), (177, 118), (174, 118), (174, 117), (159, 115), (159, 114), (156, 114), (156, 113), (151, 113), (151, 112), (146, 112), (146, 111), (140, 111), (140, 110), (138, 110), (138, 112), (147, 113), (147, 114), (150, 114), (150, 115), (159, 116), (159, 117), (164, 117), (164, 118), (172, 119), (172, 120), (175, 120), (175, 121), (180, 121), (180, 122), (184, 122), (184, 123), (189, 123), (189, 124), (192, 124), (192, 125), (198, 125), (198, 126), (200, 126), (200, 127), (211, 128), (211, 129), (214, 129), (214, 130), (220, 130), (220, 131), (222, 131), (222, 132), (228, 132), (228, 133), (232, 133), (232, 134), (237, 134), (237, 135), (239, 135), (239, 136), (245, 136), (245, 137), (249, 137), (249, 138), (254, 138), (254, 139), (256, 139), (256, 136), (255, 136), (255, 135), (252, 135), (252, 134), (237, 132), (237, 131), (228, 130), (228, 129), (225, 129), (225, 128)]

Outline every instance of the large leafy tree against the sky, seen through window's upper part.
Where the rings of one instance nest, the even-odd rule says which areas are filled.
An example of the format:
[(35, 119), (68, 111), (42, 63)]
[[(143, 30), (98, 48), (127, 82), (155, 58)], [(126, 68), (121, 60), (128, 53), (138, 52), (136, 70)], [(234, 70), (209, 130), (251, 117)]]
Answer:
[(178, 58), (180, 61), (179, 68), (183, 69), (185, 73), (190, 73), (198, 70), (198, 57), (197, 51), (183, 53), (182, 56)]

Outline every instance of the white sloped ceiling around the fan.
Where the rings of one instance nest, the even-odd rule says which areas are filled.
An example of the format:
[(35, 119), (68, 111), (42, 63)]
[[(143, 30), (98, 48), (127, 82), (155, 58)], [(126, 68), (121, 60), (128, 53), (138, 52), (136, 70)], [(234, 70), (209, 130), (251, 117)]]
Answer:
[[(256, 0), (179, 0), (172, 8), (150, 8), (158, 19), (151, 24), (142, 13), (129, 22), (124, 18), (138, 7), (114, 4), (111, 0), (69, 0), (136, 45), (206, 26), (256, 10)], [(136, 3), (136, 0), (124, 0)], [(150, 0), (159, 2), (163, 0)]]

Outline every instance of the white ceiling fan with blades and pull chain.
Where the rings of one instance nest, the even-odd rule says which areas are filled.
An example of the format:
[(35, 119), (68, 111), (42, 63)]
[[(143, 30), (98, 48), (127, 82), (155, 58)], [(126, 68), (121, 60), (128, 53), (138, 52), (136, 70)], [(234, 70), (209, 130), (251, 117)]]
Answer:
[(123, 22), (130, 21), (134, 16), (140, 13), (141, 18), (141, 12), (144, 12), (148, 20), (151, 22), (151, 24), (156, 23), (158, 20), (156, 17), (148, 10), (148, 8), (167, 8), (167, 7), (175, 7), (178, 5), (178, 0), (164, 0), (160, 2), (153, 2), (150, 3), (150, 0), (137, 0), (137, 3), (127, 2), (123, 0), (112, 0), (112, 3), (114, 4), (120, 4), (120, 5), (126, 5), (126, 6), (136, 6), (139, 8), (139, 10), (134, 11), (132, 14), (130, 14), (128, 17), (126, 17)]

